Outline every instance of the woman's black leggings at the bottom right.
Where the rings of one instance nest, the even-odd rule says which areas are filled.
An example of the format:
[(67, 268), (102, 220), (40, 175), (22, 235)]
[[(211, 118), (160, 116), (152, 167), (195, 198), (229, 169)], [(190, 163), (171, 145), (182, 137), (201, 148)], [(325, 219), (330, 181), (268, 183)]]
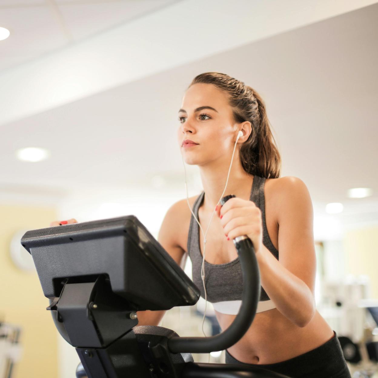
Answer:
[[(226, 350), (226, 364), (244, 364)], [(318, 348), (276, 364), (247, 364), (287, 375), (290, 378), (351, 378), (339, 339), (333, 338)]]

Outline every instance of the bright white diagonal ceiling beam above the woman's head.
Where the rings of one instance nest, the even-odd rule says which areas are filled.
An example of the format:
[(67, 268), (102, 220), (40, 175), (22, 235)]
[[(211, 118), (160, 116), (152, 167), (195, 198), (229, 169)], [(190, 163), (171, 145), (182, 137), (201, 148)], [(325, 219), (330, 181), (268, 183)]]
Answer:
[[(0, 71), (0, 125), (372, 3), (376, 1), (235, 0), (232, 6), (229, 0), (170, 3)], [(49, 0), (49, 4), (55, 3)], [(237, 17), (229, 17), (230, 10)], [(33, 28), (22, 33), (19, 54), (26, 53), (30, 36), (45, 46), (43, 38), (33, 33)], [(14, 38), (12, 33), (0, 45), (0, 53)], [(2, 61), (6, 60), (7, 55), (2, 54)]]

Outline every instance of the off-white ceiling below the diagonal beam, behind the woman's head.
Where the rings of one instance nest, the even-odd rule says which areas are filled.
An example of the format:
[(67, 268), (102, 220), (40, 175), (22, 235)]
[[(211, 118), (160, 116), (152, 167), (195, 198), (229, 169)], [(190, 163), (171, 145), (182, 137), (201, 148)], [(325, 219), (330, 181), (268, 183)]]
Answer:
[[(0, 0), (1, 12), (6, 3)], [(110, 9), (132, 2), (56, 3), (74, 38), (82, 38), (93, 33), (95, 26), (81, 29), (81, 16), (69, 16), (65, 7)], [(169, 2), (160, 2), (160, 6), (163, 3)], [(30, 9), (40, 9), (40, 17), (51, 11), (48, 6)], [(100, 15), (102, 11), (96, 12)], [(204, 17), (201, 12), (199, 16)], [(121, 21), (118, 17), (114, 22)], [(88, 186), (127, 190), (153, 187), (153, 180), (160, 176), (166, 186), (156, 191), (180, 190), (184, 194), (176, 142), (177, 111), (191, 79), (211, 70), (241, 79), (263, 96), (282, 153), (282, 175), (305, 182), (318, 214), (324, 212), (325, 203), (338, 201), (344, 203), (350, 223), (378, 222), (377, 17), (378, 4), (370, 5), (221, 53), (204, 54), (178, 67), (8, 122), (1, 126), (0, 192), (32, 188), (44, 190), (46, 195), (62, 195), (65, 190)], [(51, 27), (51, 33), (53, 30)], [(64, 33), (57, 30), (61, 33), (57, 38), (67, 43)], [(59, 47), (53, 45), (51, 48)], [(180, 54), (186, 46), (174, 48)], [(199, 43), (197, 48), (206, 51), (207, 45)], [(11, 54), (5, 60), (8, 57)], [(34, 164), (17, 161), (15, 150), (28, 146), (48, 148), (50, 160)], [(189, 194), (193, 195), (200, 183), (196, 170), (190, 168)], [(373, 196), (348, 199), (347, 189), (360, 186), (373, 188)]]

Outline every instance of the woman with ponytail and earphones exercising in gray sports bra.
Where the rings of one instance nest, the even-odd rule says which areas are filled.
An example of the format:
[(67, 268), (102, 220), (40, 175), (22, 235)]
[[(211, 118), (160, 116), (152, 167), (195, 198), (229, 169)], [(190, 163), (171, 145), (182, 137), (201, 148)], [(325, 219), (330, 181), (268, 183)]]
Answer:
[[(251, 364), (293, 378), (350, 378), (336, 333), (315, 308), (310, 194), (299, 178), (279, 178), (280, 155), (262, 99), (228, 75), (204, 73), (187, 89), (178, 116), (183, 160), (199, 167), (204, 191), (189, 198), (190, 209), (186, 199), (170, 207), (159, 242), (181, 265), (190, 256), (193, 280), (204, 296), (204, 240), (191, 209), (201, 229), (207, 229), (212, 219), (206, 234), (204, 280), (222, 330), (234, 320), (242, 292), (232, 239), (247, 235), (259, 263), (258, 312), (248, 332), (226, 351), (226, 363)], [(243, 135), (237, 140), (239, 131)], [(236, 198), (215, 208), (235, 143), (225, 195)], [(139, 325), (157, 325), (163, 314), (138, 311)]]

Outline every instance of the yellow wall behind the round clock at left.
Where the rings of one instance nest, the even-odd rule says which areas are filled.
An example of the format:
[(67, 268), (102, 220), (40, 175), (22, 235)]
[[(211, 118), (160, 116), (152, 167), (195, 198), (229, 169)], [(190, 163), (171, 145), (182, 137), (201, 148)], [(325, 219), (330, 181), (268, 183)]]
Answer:
[(14, 378), (58, 376), (57, 332), (46, 310), (48, 299), (43, 296), (37, 273), (22, 272), (9, 256), (15, 232), (45, 228), (55, 219), (53, 208), (0, 204), (0, 319), (22, 327), (23, 352)]

